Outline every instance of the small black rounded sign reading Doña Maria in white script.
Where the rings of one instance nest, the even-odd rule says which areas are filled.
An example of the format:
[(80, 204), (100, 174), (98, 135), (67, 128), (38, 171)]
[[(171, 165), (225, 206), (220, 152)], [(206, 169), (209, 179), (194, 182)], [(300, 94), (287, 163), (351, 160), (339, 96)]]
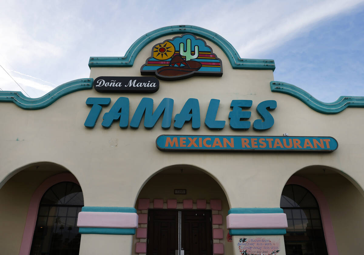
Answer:
[(159, 89), (155, 77), (100, 76), (94, 80), (98, 92), (154, 93)]

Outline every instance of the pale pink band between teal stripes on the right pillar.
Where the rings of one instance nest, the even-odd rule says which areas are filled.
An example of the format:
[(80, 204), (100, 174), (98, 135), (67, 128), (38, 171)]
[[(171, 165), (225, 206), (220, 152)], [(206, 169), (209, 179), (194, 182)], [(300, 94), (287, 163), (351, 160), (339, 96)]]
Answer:
[(285, 213), (231, 213), (226, 216), (227, 229), (287, 228)]

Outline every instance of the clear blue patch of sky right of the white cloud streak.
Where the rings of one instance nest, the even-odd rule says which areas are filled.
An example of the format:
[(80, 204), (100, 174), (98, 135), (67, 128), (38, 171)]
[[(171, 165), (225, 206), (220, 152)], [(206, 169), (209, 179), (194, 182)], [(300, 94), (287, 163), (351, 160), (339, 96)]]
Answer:
[(274, 79), (324, 102), (364, 96), (364, 8), (322, 20), (312, 30), (259, 55), (276, 62)]

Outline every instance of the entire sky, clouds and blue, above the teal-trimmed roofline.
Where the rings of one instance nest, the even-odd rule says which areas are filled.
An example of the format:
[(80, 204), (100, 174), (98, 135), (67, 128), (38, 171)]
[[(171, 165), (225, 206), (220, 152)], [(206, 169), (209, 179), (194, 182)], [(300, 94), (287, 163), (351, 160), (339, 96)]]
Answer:
[[(218, 33), (241, 58), (274, 59), (276, 81), (321, 101), (364, 96), (364, 0), (2, 2), (0, 64), (31, 97), (87, 78), (90, 56), (123, 56), (179, 24)], [(20, 91), (1, 68), (0, 88)]]

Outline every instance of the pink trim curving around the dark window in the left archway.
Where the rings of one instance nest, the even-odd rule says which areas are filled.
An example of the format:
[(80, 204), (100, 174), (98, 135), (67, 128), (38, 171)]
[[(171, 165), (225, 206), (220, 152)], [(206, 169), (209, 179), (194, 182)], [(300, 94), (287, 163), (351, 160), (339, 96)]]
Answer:
[(63, 181), (71, 181), (72, 183), (80, 185), (73, 174), (59, 173), (43, 181), (43, 183), (40, 184), (39, 187), (33, 193), (33, 196), (30, 199), (27, 220), (25, 221), (23, 239), (21, 239), (19, 255), (29, 255), (30, 253), (30, 248), (32, 246), (34, 228), (37, 221), (38, 208), (41, 198), (49, 188)]

